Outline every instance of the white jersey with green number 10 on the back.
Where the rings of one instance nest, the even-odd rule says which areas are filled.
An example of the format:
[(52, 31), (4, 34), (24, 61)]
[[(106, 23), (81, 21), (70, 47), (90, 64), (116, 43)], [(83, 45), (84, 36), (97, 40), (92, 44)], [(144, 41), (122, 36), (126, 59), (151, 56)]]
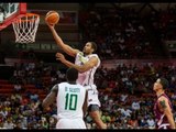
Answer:
[(78, 85), (68, 82), (58, 84), (57, 94), (57, 118), (61, 119), (81, 119), (84, 118), (82, 105), (86, 97), (86, 89)]

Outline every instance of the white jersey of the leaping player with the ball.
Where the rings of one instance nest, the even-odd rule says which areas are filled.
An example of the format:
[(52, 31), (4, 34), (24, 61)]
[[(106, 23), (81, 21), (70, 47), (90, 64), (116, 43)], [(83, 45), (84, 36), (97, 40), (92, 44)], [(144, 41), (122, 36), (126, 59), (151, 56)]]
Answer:
[(98, 58), (97, 66), (94, 66), (92, 68), (90, 68), (89, 70), (87, 70), (85, 73), (79, 73), (79, 75), (78, 75), (77, 82), (82, 86), (94, 85), (94, 78), (95, 78), (94, 76), (95, 76), (97, 68), (100, 66), (100, 58), (98, 57), (97, 54), (84, 56), (82, 52), (79, 52), (76, 55), (75, 64), (79, 65), (79, 66), (85, 64), (86, 62), (88, 62), (94, 56), (96, 56)]

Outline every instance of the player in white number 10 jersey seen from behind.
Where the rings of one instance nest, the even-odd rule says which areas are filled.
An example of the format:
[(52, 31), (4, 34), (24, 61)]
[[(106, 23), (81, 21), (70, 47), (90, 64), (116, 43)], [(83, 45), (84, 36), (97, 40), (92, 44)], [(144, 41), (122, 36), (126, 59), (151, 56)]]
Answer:
[(43, 108), (57, 103), (56, 129), (86, 129), (87, 90), (76, 82), (78, 70), (68, 68), (67, 81), (55, 85), (42, 102)]

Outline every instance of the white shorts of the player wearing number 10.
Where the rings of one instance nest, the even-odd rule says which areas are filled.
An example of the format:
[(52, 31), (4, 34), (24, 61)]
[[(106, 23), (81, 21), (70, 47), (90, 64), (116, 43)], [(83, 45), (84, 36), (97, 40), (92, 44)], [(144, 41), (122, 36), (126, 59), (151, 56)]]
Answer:
[(56, 129), (87, 129), (82, 119), (59, 119)]

